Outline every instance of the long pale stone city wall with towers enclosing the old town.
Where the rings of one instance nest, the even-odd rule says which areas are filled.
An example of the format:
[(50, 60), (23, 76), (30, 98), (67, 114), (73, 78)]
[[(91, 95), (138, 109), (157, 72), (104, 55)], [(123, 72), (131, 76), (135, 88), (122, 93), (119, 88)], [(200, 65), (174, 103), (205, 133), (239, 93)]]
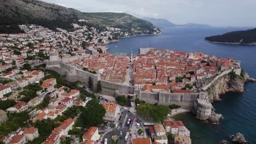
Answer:
[[(100, 79), (100, 74), (92, 74), (88, 71), (84, 71), (69, 65), (67, 63), (74, 61), (76, 59), (82, 59), (86, 56), (73, 56), (73, 57), (63, 57), (59, 58), (57, 52), (50, 53), (49, 61), (46, 61), (46, 68), (51, 69), (59, 73), (61, 76), (65, 76), (67, 81), (75, 82), (82, 81), (87, 83), (89, 77), (92, 78), (94, 82), (94, 89), (98, 81), (101, 81), (102, 85), (102, 94), (117, 96), (117, 95), (132, 95), (139, 100), (144, 100), (147, 103), (151, 104), (162, 104), (162, 105), (171, 105), (177, 104), (184, 109), (189, 109), (193, 111), (196, 115), (196, 118), (201, 119), (202, 121), (207, 120), (211, 116), (212, 104), (211, 100), (208, 99), (207, 88), (222, 77), (223, 75), (229, 74), (231, 71), (235, 71), (237, 75), (240, 75), (241, 69), (235, 70), (225, 70), (222, 74), (216, 76), (214, 80), (208, 83), (207, 86), (201, 88), (201, 91), (198, 93), (167, 93), (167, 92), (144, 92), (136, 90), (134, 86), (124, 86), (118, 83), (104, 81)], [(115, 90), (106, 89), (104, 87), (113, 88)]]

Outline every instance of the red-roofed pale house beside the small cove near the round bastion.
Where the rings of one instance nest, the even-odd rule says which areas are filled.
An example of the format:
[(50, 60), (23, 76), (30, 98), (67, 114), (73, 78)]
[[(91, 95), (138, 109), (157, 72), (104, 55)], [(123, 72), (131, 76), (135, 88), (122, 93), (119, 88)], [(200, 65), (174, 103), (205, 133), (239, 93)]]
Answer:
[(176, 135), (179, 132), (179, 127), (184, 127), (184, 124), (182, 121), (165, 121), (164, 127), (166, 133), (172, 133)]

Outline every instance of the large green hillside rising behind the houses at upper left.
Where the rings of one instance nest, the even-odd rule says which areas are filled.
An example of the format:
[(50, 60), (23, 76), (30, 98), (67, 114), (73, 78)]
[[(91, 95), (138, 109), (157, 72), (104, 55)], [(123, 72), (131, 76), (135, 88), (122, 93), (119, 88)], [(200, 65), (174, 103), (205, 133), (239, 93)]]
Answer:
[[(71, 23), (102, 27), (116, 27), (130, 31), (132, 28), (155, 28), (152, 23), (126, 13), (83, 13), (61, 5), (37, 0), (0, 0), (0, 26), (37, 24), (50, 29), (71, 29)], [(14, 26), (15, 27), (15, 26)], [(1, 27), (0, 27), (1, 28)]]

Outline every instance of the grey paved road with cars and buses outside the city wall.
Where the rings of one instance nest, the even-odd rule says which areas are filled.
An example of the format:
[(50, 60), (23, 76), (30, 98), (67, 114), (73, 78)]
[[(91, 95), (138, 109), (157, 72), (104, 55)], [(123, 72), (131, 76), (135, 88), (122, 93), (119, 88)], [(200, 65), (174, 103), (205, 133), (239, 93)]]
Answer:
[(115, 129), (115, 130), (112, 130), (112, 131), (109, 131), (108, 133), (106, 133), (102, 139), (103, 141), (105, 138), (107, 138), (108, 143), (112, 143), (111, 137), (113, 135), (120, 136), (120, 131), (122, 131), (122, 136), (120, 136), (119, 144), (126, 143), (126, 141), (124, 140), (125, 135), (127, 132), (129, 132), (129, 127), (127, 126), (127, 122), (128, 122), (128, 119), (134, 119), (135, 116), (127, 110), (124, 110), (124, 109), (121, 109), (121, 110), (123, 111), (123, 114), (121, 114), (121, 118), (120, 118), (119, 125), (118, 125), (118, 126), (120, 126), (120, 129), (119, 130)]

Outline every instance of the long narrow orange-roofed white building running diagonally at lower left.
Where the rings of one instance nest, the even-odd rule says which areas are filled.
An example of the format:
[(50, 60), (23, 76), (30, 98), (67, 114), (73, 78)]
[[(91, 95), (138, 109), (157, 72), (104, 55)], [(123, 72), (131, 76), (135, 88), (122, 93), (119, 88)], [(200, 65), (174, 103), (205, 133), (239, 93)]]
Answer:
[(46, 139), (45, 144), (59, 144), (60, 138), (65, 137), (68, 134), (68, 131), (72, 129), (74, 125), (74, 120), (68, 118), (61, 125), (53, 130), (53, 132)]

